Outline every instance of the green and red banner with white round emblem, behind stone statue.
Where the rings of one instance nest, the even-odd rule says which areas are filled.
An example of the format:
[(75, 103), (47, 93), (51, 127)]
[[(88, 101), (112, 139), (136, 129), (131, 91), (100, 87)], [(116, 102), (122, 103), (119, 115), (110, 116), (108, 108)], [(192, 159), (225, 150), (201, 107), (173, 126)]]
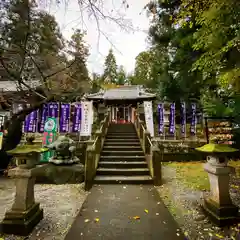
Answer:
[[(48, 118), (44, 125), (44, 133), (43, 133), (43, 146), (47, 146), (52, 143), (56, 139), (57, 134), (57, 119), (56, 118)], [(49, 158), (54, 155), (54, 151), (48, 151), (42, 153), (41, 162), (48, 162)]]

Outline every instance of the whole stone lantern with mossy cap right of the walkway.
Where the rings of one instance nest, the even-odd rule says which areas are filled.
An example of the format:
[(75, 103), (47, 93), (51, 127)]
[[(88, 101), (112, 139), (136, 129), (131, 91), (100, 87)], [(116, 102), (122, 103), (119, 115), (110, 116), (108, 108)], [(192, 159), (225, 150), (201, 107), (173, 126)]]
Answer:
[(208, 173), (210, 196), (205, 197), (202, 208), (218, 226), (232, 224), (239, 219), (238, 208), (233, 205), (229, 194), (230, 167), (228, 156), (238, 151), (224, 144), (209, 143), (196, 148), (207, 155), (204, 170)]

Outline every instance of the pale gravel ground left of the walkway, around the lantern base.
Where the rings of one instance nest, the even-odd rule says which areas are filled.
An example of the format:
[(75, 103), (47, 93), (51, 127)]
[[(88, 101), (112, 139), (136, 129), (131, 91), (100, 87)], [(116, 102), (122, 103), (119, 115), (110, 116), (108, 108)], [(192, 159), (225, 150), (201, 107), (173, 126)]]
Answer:
[[(0, 178), (0, 221), (14, 200), (12, 179)], [(35, 185), (35, 199), (44, 210), (44, 219), (29, 237), (1, 236), (4, 240), (63, 240), (73, 223), (87, 192), (82, 184)]]

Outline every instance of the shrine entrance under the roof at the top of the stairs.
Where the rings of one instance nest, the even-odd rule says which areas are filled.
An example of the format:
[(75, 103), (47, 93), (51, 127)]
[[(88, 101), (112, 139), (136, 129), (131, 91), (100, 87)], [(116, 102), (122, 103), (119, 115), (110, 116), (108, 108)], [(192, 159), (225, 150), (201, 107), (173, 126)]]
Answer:
[(111, 106), (111, 121), (115, 123), (133, 122), (134, 109), (131, 105)]

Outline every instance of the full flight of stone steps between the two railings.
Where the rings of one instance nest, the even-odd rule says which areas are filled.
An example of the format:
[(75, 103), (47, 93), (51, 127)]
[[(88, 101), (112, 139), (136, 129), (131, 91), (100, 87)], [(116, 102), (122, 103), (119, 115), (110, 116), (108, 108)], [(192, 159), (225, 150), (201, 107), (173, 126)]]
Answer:
[(109, 126), (94, 183), (153, 183), (133, 124)]

